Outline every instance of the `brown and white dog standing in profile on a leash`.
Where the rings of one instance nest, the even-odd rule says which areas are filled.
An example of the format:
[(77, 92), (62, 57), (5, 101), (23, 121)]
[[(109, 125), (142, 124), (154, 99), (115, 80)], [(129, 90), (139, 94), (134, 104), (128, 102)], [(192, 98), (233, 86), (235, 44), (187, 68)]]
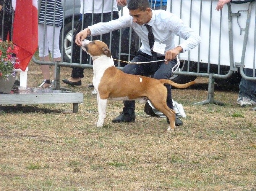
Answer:
[(139, 100), (145, 103), (147, 99), (159, 111), (169, 118), (170, 127), (175, 129), (175, 111), (166, 104), (167, 89), (164, 84), (177, 88), (187, 88), (195, 82), (177, 84), (170, 80), (157, 80), (146, 76), (126, 74), (115, 67), (108, 46), (99, 40), (83, 40), (82, 48), (92, 57), (93, 80), (97, 92), (99, 118), (97, 126), (102, 127), (106, 117), (107, 100)]

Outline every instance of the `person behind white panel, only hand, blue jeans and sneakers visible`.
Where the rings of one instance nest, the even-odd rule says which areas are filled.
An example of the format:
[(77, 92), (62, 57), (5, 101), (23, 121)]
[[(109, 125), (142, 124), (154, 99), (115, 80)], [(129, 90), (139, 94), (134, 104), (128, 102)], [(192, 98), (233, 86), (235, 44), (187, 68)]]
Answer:
[[(223, 6), (226, 3), (248, 3), (253, 2), (254, 0), (219, 0), (216, 6), (216, 10), (222, 10)], [(253, 69), (251, 68), (244, 68), (244, 73), (246, 76), (253, 76)], [(254, 73), (255, 75), (255, 73)], [(239, 94), (237, 99), (237, 104), (241, 107), (246, 106), (256, 106), (256, 81), (255, 80), (246, 80), (241, 78), (239, 84)]]

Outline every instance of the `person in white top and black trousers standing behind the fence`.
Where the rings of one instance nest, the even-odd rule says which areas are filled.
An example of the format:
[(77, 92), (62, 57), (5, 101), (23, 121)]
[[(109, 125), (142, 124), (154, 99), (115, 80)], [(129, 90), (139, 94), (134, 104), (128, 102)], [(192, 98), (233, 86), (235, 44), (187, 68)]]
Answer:
[[(113, 6), (112, 6), (113, 1)], [(103, 2), (103, 4), (102, 4)], [(103, 6), (103, 21), (102, 21), (102, 6)], [(84, 10), (83, 10), (84, 7)], [(113, 12), (112, 12), (113, 10)], [(84, 22), (83, 28), (87, 28), (89, 25), (96, 24), (98, 22), (107, 22), (111, 21), (111, 19), (115, 20), (118, 19), (118, 7), (116, 0), (94, 0), (94, 7), (93, 7), (93, 0), (81, 0), (81, 8), (80, 13), (84, 13)], [(93, 13), (93, 22), (92, 22), (92, 13)], [(111, 18), (112, 17), (112, 18)], [(74, 42), (76, 38), (76, 34), (82, 30), (82, 18), (78, 21), (76, 25), (76, 30), (74, 33)], [(88, 38), (88, 40), (90, 40)], [(96, 36), (93, 40), (100, 40), (100, 36)], [(102, 41), (104, 41), (107, 45), (110, 43), (110, 33), (102, 35)], [(115, 30), (112, 32), (112, 48), (111, 54), (114, 59), (118, 59), (118, 44), (119, 44), (119, 31)], [(72, 49), (72, 62), (80, 63), (80, 46), (74, 43)], [(86, 64), (89, 56), (85, 51), (82, 51), (82, 61), (81, 64)], [(115, 62), (117, 65), (117, 62)], [(63, 79), (62, 81), (69, 85), (81, 86), (81, 78), (84, 77), (84, 68), (74, 67), (72, 68), (71, 77), (68, 79)]]

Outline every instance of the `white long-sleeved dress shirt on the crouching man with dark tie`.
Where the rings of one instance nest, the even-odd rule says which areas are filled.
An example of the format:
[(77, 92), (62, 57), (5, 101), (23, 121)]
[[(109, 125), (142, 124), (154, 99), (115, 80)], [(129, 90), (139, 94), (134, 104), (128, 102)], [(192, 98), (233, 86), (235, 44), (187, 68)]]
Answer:
[[(147, 24), (152, 27), (155, 41), (166, 44), (164, 54), (167, 50), (176, 47), (174, 45), (175, 35), (185, 39), (183, 43), (178, 45), (181, 46), (183, 52), (189, 51), (201, 43), (201, 37), (196, 32), (186, 26), (176, 15), (167, 11), (152, 10), (152, 18)], [(125, 27), (132, 27), (134, 29), (141, 38), (140, 50), (143, 53), (151, 55), (151, 49), (148, 41), (148, 30), (146, 26), (133, 22), (133, 18), (130, 15), (125, 15), (119, 19), (109, 22), (99, 22), (89, 26), (89, 29), (91, 31), (91, 36), (95, 36)], [(158, 53), (158, 56), (163, 55)]]

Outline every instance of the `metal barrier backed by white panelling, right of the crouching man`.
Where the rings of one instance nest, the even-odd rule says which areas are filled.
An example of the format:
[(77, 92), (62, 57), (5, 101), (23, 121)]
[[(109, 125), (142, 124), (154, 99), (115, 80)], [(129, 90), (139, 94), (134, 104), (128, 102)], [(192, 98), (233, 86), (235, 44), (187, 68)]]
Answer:
[[(213, 98), (215, 79), (227, 79), (240, 72), (243, 78), (256, 80), (255, 2), (237, 5), (228, 3), (220, 13), (215, 10), (216, 5), (217, 1), (212, 0), (170, 0), (167, 4), (170, 12), (180, 15), (202, 37), (198, 49), (180, 55), (181, 59), (188, 62), (187, 70), (175, 72), (177, 75), (209, 77), (208, 99), (199, 104), (222, 104)], [(177, 38), (177, 43), (180, 40)], [(245, 75), (244, 67), (252, 68), (252, 77)]]

